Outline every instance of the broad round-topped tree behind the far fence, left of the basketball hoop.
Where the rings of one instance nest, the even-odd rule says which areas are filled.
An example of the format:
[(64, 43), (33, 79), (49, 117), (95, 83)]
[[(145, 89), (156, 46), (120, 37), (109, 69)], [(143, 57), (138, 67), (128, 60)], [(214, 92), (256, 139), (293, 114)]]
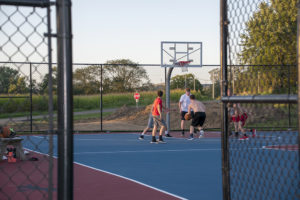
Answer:
[(129, 59), (111, 60), (106, 64), (104, 91), (132, 92), (150, 84), (146, 70)]

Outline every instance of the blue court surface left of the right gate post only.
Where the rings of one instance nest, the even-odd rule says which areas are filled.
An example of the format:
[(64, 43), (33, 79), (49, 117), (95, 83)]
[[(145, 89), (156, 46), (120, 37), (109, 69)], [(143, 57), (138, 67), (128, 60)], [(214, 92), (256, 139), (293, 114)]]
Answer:
[[(222, 199), (221, 140), (165, 138), (150, 144), (138, 134), (74, 135), (74, 162), (117, 174), (183, 199)], [(48, 138), (30, 136), (24, 147), (48, 152)], [(57, 138), (54, 137), (54, 156)], [(38, 144), (35, 149), (33, 144)], [(101, 181), (101, 180), (99, 180)], [(117, 190), (117, 188), (116, 188)]]

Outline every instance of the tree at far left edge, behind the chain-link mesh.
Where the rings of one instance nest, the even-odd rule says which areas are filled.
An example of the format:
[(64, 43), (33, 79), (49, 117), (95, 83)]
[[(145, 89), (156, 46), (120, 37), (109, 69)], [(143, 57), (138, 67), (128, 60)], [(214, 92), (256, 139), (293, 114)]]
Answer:
[(7, 94), (10, 85), (16, 85), (20, 75), (19, 72), (10, 67), (0, 67), (0, 94)]

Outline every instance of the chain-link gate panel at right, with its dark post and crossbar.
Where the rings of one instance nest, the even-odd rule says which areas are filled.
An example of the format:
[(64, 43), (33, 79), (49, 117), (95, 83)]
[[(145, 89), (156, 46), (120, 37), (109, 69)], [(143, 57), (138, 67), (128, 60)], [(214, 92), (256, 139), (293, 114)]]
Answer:
[(298, 199), (297, 0), (220, 2), (223, 198)]

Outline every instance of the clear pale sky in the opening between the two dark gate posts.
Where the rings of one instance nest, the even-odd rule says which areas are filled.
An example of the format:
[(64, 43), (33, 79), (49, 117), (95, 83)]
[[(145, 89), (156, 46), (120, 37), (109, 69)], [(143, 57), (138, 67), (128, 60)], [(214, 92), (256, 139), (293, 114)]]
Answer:
[[(75, 63), (130, 59), (140, 64), (160, 64), (161, 41), (201, 41), (203, 64), (220, 62), (219, 0), (72, 3)], [(208, 80), (206, 72), (211, 69), (200, 70), (199, 79)]]

